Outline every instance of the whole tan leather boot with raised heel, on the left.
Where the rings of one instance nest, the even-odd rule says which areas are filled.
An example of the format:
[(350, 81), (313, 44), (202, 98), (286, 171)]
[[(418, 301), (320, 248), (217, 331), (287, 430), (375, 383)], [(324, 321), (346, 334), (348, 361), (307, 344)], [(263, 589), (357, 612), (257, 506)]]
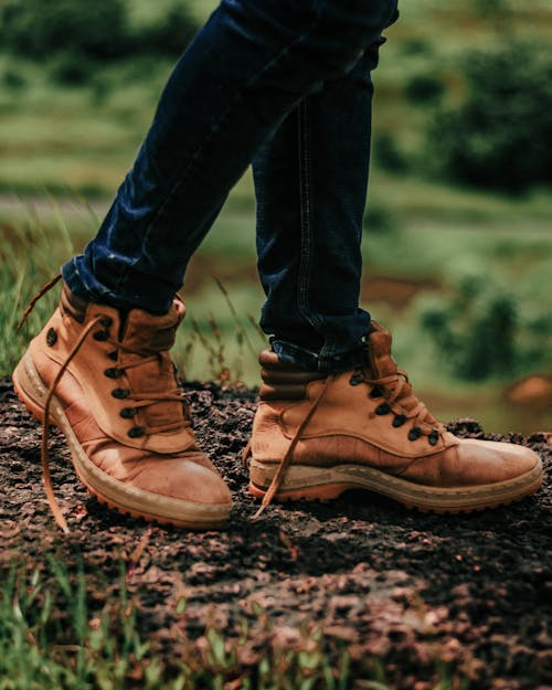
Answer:
[[(85, 302), (66, 287), (60, 307), (13, 373), (21, 401), (65, 435), (91, 493), (137, 518), (219, 528), (230, 491), (193, 436), (169, 349), (184, 316)], [(47, 459), (43, 459), (47, 478)], [(46, 490), (49, 486), (46, 482)], [(54, 514), (65, 529), (63, 516)]]

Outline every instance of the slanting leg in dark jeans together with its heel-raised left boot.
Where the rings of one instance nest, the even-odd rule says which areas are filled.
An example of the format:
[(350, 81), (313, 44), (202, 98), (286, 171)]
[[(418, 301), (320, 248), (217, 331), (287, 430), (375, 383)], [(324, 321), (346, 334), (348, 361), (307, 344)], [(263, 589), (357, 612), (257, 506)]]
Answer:
[(306, 94), (351, 70), (394, 9), (224, 0), (177, 65), (98, 236), (64, 266), (60, 307), (13, 374), (107, 505), (198, 529), (227, 518), (230, 492), (195, 445), (168, 354), (184, 315), (173, 295), (262, 141)]

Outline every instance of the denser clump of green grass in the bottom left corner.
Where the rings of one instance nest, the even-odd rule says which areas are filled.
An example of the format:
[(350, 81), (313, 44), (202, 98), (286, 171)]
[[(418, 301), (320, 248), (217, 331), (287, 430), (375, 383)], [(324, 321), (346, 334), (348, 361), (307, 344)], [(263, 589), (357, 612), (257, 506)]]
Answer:
[[(38, 570), (11, 570), (0, 590), (1, 690), (115, 690), (159, 687), (160, 666), (136, 627), (136, 609), (120, 588), (100, 612), (87, 607), (86, 578), (49, 560), (53, 581)], [(183, 686), (176, 680), (169, 690)]]

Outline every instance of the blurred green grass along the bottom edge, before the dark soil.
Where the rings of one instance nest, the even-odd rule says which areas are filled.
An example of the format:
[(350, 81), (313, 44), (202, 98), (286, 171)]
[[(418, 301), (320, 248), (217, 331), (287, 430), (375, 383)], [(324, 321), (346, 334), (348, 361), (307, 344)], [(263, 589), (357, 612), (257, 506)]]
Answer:
[[(43, 571), (9, 572), (0, 585), (0, 690), (390, 690), (382, 661), (362, 659), (353, 677), (347, 648), (333, 644), (330, 656), (320, 630), (302, 629), (293, 645), (278, 644), (259, 607), (258, 639), (244, 618), (238, 637), (208, 627), (197, 643), (185, 636), (185, 601), (179, 599), (170, 612), (179, 661), (168, 664), (140, 630), (123, 563), (119, 570), (119, 582), (106, 583), (100, 609), (91, 607), (82, 567), (71, 574), (51, 556)], [(264, 654), (247, 660), (243, 652), (255, 644)], [(439, 659), (438, 648), (434, 664), (434, 690), (467, 690), (467, 679)]]

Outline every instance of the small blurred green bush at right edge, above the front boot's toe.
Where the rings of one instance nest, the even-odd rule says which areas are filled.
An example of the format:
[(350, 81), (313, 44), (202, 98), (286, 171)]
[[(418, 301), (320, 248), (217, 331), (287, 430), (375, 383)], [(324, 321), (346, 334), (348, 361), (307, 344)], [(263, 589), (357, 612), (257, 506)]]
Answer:
[(416, 311), (444, 362), (461, 379), (511, 376), (550, 364), (546, 305), (523, 304), (484, 266), (460, 263), (449, 290), (422, 298)]

